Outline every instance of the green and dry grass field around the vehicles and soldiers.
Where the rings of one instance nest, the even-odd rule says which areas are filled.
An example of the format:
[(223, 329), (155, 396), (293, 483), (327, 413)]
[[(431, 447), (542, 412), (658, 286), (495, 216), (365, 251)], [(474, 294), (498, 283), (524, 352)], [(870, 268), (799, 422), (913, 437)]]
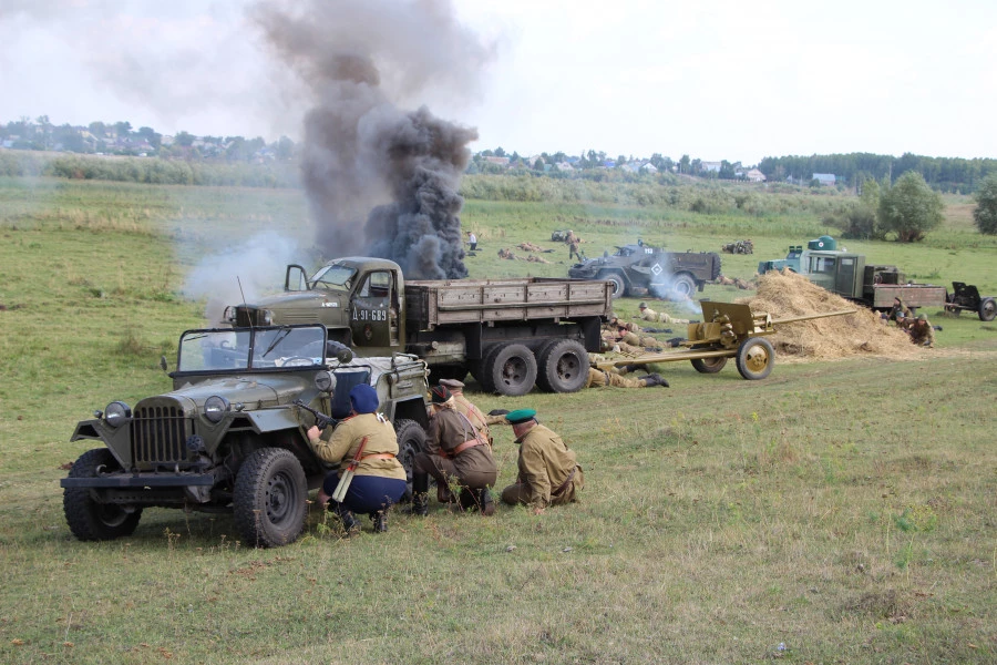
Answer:
[[(959, 206), (924, 246), (849, 245), (997, 294), (997, 253)], [(476, 396), (536, 408), (578, 451), (583, 502), (543, 516), (433, 504), (339, 540), (312, 509), (300, 541), (259, 551), (228, 515), (151, 509), (132, 538), (75, 541), (58, 484), (86, 448), (68, 441), (75, 422), (168, 389), (160, 355), (204, 324), (181, 294), (191, 266), (266, 228), (306, 238), (304, 218), (290, 191), (0, 182), (0, 661), (997, 659), (997, 326), (967, 315), (936, 320), (941, 348), (917, 361), (777, 364), (752, 382), (672, 364), (668, 389)], [(483, 245), (472, 276), (564, 275), (561, 246), (564, 264), (495, 256), (554, 247), (554, 228), (589, 255), (637, 235), (696, 250), (749, 236), (756, 255), (724, 256), (744, 277), (826, 231), (810, 213), (765, 226), (485, 201), (463, 218)], [(508, 428), (496, 451), (502, 485)]]

